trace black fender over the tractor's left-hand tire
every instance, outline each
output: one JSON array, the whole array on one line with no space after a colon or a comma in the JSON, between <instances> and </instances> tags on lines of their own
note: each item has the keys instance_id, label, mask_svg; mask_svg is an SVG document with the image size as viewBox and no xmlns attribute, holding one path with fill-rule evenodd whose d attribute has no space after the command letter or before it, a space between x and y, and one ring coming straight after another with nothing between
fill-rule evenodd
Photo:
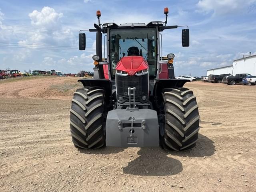
<instances>
[{"instance_id":1,"label":"black fender over the tractor's left-hand tire","mask_svg":"<svg viewBox=\"0 0 256 192\"><path fill-rule=\"evenodd\" d=\"M86 86L95 86L102 87L105 90L105 102L110 104L112 102L112 84L108 79L80 79L78 82L81 82L84 87Z\"/></svg>"}]
</instances>

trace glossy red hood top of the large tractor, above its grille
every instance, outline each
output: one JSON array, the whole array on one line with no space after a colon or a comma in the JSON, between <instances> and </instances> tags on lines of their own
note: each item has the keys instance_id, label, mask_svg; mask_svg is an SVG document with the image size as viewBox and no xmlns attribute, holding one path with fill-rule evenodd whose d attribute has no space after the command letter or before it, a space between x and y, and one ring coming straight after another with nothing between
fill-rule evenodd
<instances>
[{"instance_id":1,"label":"glossy red hood top of the large tractor, above its grille","mask_svg":"<svg viewBox=\"0 0 256 192\"><path fill-rule=\"evenodd\" d=\"M148 62L141 56L126 56L116 65L116 70L125 71L130 76L136 74L136 72L148 69Z\"/></svg>"}]
</instances>

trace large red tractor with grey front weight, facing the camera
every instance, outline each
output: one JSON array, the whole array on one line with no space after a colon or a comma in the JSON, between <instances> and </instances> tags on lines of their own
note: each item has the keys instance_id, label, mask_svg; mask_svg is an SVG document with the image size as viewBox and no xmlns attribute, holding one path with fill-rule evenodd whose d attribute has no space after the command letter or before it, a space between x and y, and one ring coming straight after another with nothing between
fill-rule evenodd
<instances>
[{"instance_id":1,"label":"large red tractor with grey front weight, facing the camera","mask_svg":"<svg viewBox=\"0 0 256 192\"><path fill-rule=\"evenodd\" d=\"M188 150L196 145L199 113L193 92L183 88L189 80L174 78L174 54L162 57L165 22L98 24L94 78L80 79L70 110L72 142L77 148L102 146L154 147ZM102 34L107 56L102 58ZM79 34L85 50L86 35ZM182 29L182 46L189 46L189 30ZM104 50L105 52L105 50Z\"/></svg>"}]
</instances>

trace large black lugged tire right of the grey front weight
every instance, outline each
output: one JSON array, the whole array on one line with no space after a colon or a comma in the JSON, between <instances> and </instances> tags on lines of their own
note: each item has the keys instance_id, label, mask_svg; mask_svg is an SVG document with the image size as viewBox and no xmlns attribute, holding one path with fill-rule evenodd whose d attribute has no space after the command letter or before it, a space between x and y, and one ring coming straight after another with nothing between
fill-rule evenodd
<instances>
[{"instance_id":1,"label":"large black lugged tire right of the grey front weight","mask_svg":"<svg viewBox=\"0 0 256 192\"><path fill-rule=\"evenodd\" d=\"M168 150L189 150L196 145L199 131L199 112L196 97L187 88L163 90L165 108L164 135L160 145Z\"/></svg>"}]
</instances>

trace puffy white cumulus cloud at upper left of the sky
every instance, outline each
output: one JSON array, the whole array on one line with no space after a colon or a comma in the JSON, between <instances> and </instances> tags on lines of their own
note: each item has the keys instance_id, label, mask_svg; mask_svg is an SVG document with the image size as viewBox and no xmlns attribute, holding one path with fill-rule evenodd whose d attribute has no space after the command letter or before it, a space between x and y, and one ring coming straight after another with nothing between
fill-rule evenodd
<instances>
[{"instance_id":1,"label":"puffy white cumulus cloud at upper left of the sky","mask_svg":"<svg viewBox=\"0 0 256 192\"><path fill-rule=\"evenodd\" d=\"M33 26L39 26L42 28L56 28L56 24L63 17L62 13L57 13L53 8L44 7L39 12L34 10L32 13L28 14L31 19L31 24Z\"/></svg>"}]
</instances>

